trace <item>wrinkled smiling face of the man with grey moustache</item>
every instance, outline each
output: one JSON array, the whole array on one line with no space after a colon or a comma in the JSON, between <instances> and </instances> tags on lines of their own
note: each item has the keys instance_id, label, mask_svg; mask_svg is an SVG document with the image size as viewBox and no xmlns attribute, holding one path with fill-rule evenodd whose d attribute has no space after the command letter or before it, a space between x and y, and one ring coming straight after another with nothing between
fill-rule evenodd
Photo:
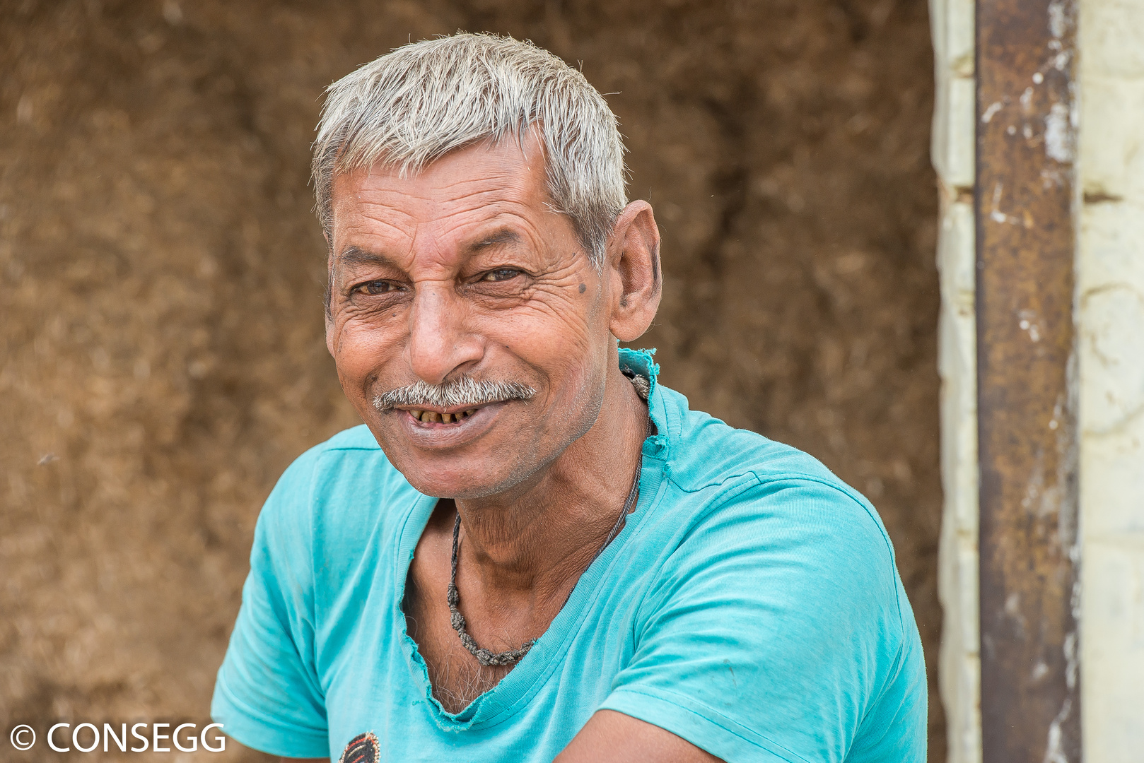
<instances>
[{"instance_id":1,"label":"wrinkled smiling face of the man with grey moustache","mask_svg":"<svg viewBox=\"0 0 1144 763\"><path fill-rule=\"evenodd\" d=\"M353 407L423 493L507 490L596 421L614 289L549 204L532 136L413 177L376 166L334 180L326 343ZM461 379L505 391L476 406L375 405Z\"/></svg>"}]
</instances>

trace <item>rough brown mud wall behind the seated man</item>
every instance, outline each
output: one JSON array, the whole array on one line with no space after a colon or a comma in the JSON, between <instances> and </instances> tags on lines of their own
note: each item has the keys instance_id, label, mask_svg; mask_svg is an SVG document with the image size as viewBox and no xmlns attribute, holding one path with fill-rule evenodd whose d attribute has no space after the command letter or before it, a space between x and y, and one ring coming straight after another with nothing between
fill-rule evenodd
<instances>
[{"instance_id":1,"label":"rough brown mud wall behind the seated man","mask_svg":"<svg viewBox=\"0 0 1144 763\"><path fill-rule=\"evenodd\" d=\"M5 737L205 722L262 500L355 423L323 345L318 96L458 29L612 94L664 231L641 344L694 407L877 504L936 665L924 0L0 0Z\"/></svg>"}]
</instances>

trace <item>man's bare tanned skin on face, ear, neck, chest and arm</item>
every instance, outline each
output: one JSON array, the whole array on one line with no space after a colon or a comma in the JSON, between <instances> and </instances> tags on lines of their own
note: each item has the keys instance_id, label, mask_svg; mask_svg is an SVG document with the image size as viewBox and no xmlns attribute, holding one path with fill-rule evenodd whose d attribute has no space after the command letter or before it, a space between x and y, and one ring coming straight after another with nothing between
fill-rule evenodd
<instances>
[{"instance_id":1,"label":"man's bare tanned skin on face, ear, neck, chest and arm","mask_svg":"<svg viewBox=\"0 0 1144 763\"><path fill-rule=\"evenodd\" d=\"M618 369L615 339L635 340L656 315L659 233L651 207L629 204L597 271L550 206L531 133L523 145L467 148L411 177L384 167L342 174L333 198L326 342L342 388L414 487L454 499L438 503L418 543L405 612L435 696L458 712L510 667L482 667L450 625L456 511L469 633L493 651L540 636L635 475L646 407ZM451 423L372 404L418 380L462 375L523 382L537 395ZM599 712L558 760L716 758Z\"/></svg>"}]
</instances>

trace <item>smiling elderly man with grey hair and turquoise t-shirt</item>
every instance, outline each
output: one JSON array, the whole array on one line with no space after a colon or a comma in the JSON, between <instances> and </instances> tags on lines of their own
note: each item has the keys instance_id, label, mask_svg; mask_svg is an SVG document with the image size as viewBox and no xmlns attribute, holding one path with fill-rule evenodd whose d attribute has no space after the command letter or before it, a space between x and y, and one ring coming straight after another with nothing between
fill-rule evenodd
<instances>
[{"instance_id":1,"label":"smiling elderly man with grey hair and turquoise t-shirt","mask_svg":"<svg viewBox=\"0 0 1144 763\"><path fill-rule=\"evenodd\" d=\"M922 761L877 514L690 411L643 334L651 207L604 100L530 43L408 45L315 144L326 343L365 422L259 519L213 715L286 757Z\"/></svg>"}]
</instances>

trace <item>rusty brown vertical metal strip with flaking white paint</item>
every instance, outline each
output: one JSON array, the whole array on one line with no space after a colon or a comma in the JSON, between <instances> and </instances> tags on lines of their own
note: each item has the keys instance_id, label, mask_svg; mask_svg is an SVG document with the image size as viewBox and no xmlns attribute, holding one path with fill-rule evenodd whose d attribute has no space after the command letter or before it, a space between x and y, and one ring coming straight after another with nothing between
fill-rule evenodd
<instances>
[{"instance_id":1,"label":"rusty brown vertical metal strip with flaking white paint","mask_svg":"<svg viewBox=\"0 0 1144 763\"><path fill-rule=\"evenodd\" d=\"M1080 761L1075 14L977 2L983 763Z\"/></svg>"}]
</instances>

